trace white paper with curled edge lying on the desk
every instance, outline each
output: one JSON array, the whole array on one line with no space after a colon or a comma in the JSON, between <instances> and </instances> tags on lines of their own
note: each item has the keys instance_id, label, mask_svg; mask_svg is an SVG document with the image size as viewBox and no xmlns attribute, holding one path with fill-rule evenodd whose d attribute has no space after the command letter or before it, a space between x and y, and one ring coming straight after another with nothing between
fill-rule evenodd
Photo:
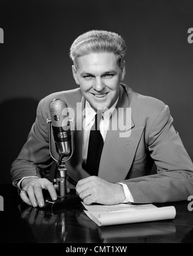
<instances>
[{"instance_id":1,"label":"white paper with curled edge lying on the desk","mask_svg":"<svg viewBox=\"0 0 193 256\"><path fill-rule=\"evenodd\" d=\"M174 219L174 206L156 207L153 204L116 204L112 206L89 205L82 203L86 215L98 226L109 226L145 221Z\"/></svg>"}]
</instances>

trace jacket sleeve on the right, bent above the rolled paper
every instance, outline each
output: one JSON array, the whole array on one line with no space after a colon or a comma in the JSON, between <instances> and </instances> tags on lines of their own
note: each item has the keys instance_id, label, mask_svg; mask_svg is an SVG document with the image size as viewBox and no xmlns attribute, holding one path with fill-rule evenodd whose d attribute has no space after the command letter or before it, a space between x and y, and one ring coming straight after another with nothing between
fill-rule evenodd
<instances>
[{"instance_id":1,"label":"jacket sleeve on the right, bent above the rolled paper","mask_svg":"<svg viewBox=\"0 0 193 256\"><path fill-rule=\"evenodd\" d=\"M135 203L187 200L193 195L193 164L165 105L149 132L148 149L157 174L123 181Z\"/></svg>"}]
</instances>

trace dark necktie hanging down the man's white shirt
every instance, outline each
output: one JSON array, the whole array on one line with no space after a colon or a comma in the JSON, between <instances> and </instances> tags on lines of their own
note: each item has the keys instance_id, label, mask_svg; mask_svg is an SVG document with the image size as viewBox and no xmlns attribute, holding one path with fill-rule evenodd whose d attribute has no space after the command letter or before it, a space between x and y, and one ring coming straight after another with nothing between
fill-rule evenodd
<instances>
[{"instance_id":1,"label":"dark necktie hanging down the man's white shirt","mask_svg":"<svg viewBox=\"0 0 193 256\"><path fill-rule=\"evenodd\" d=\"M99 129L99 123L101 118L101 113L95 115L95 123L91 127L91 132L89 135L89 145L87 150L87 160L85 166L85 170L87 173L96 176L98 175L100 156L104 145L104 141Z\"/></svg>"}]
</instances>

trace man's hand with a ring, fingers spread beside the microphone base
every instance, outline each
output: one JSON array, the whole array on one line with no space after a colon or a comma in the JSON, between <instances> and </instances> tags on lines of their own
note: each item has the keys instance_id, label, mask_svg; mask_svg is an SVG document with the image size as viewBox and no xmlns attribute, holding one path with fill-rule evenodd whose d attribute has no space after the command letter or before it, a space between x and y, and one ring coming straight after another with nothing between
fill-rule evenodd
<instances>
[{"instance_id":1,"label":"man's hand with a ring, fingers spread beside the microphone base","mask_svg":"<svg viewBox=\"0 0 193 256\"><path fill-rule=\"evenodd\" d=\"M44 207L44 197L42 189L48 190L51 199L57 199L57 192L52 182L45 178L26 178L22 181L21 199L33 207Z\"/></svg>"}]
</instances>

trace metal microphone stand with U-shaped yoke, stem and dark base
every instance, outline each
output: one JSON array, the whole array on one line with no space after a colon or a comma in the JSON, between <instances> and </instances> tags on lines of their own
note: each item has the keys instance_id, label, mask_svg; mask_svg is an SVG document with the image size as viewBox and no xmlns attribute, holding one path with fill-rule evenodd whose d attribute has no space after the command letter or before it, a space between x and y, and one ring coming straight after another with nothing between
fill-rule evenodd
<instances>
[{"instance_id":1,"label":"metal microphone stand with U-shaped yoke, stem and dark base","mask_svg":"<svg viewBox=\"0 0 193 256\"><path fill-rule=\"evenodd\" d=\"M57 166L55 168L55 174L53 178L53 184L59 185L59 194L57 196L57 200L53 201L50 197L45 199L45 208L55 210L64 207L64 205L67 205L69 203L69 198L71 198L72 195L67 193L67 186L66 186L66 177L67 177L67 169L66 169L66 162L69 161L73 154L73 131L71 129L71 155L68 159L65 161L62 161L62 159L65 157L65 154L59 155L59 160L55 159L51 153L51 119L47 119L47 123L49 125L48 127L48 133L49 133L49 148L50 148L50 155L51 158L57 162ZM73 123L73 119L69 119L70 127Z\"/></svg>"}]
</instances>

